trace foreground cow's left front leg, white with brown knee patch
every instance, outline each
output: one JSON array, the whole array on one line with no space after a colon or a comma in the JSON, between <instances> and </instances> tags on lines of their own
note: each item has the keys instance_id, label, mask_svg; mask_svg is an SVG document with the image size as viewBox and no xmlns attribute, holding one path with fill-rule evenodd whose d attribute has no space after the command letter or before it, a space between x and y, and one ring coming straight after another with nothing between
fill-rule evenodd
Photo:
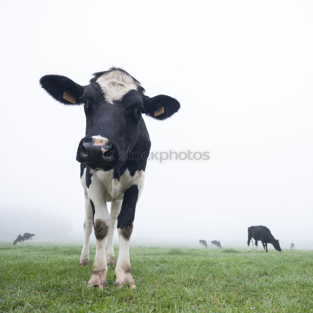
<instances>
[{"instance_id":1,"label":"foreground cow's left front leg, white with brown knee patch","mask_svg":"<svg viewBox=\"0 0 313 313\"><path fill-rule=\"evenodd\" d=\"M87 178L86 178L87 179ZM87 188L90 204L94 212L94 233L96 237L96 254L92 266L89 286L105 288L108 267L105 259L105 245L107 235L110 232L111 218L106 207L105 190L103 186L92 177L91 184Z\"/></svg>"}]
</instances>

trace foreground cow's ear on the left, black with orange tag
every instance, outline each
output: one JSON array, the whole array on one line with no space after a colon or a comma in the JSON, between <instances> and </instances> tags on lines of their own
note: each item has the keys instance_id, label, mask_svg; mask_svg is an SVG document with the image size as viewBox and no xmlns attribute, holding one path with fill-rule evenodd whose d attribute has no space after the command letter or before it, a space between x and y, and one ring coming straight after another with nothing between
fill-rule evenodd
<instances>
[{"instance_id":1,"label":"foreground cow's ear on the left, black with orange tag","mask_svg":"<svg viewBox=\"0 0 313 313\"><path fill-rule=\"evenodd\" d=\"M62 75L45 75L39 83L55 100L64 104L81 104L84 87Z\"/></svg>"}]
</instances>

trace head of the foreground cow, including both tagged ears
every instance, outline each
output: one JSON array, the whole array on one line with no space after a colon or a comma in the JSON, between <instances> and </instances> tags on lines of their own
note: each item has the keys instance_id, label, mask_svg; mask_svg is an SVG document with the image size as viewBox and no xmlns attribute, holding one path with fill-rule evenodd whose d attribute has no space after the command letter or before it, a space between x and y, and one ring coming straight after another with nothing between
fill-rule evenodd
<instances>
[{"instance_id":1,"label":"head of the foreground cow, including both tagged ears","mask_svg":"<svg viewBox=\"0 0 313 313\"><path fill-rule=\"evenodd\" d=\"M91 166L119 165L119 154L131 151L138 137L141 114L164 120L180 108L167 95L150 98L135 78L112 68L94 74L87 86L60 75L46 75L41 86L54 99L66 105L84 105L86 136L81 139L76 159Z\"/></svg>"}]
</instances>

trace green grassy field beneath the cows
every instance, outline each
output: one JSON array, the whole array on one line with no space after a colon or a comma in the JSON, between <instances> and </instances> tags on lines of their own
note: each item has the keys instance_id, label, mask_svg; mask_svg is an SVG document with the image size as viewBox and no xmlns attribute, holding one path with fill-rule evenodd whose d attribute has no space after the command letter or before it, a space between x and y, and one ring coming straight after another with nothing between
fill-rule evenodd
<instances>
[{"instance_id":1,"label":"green grassy field beneath the cows","mask_svg":"<svg viewBox=\"0 0 313 313\"><path fill-rule=\"evenodd\" d=\"M80 249L0 244L0 312L313 312L313 251L131 247L136 289L99 290Z\"/></svg>"}]
</instances>

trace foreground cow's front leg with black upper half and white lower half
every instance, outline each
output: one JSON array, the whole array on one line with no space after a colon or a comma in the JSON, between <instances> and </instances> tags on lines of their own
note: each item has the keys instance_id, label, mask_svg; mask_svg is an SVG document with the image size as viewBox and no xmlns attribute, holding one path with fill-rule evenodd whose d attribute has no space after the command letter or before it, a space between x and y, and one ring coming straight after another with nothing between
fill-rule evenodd
<instances>
[{"instance_id":1,"label":"foreground cow's front leg with black upper half and white lower half","mask_svg":"<svg viewBox=\"0 0 313 313\"><path fill-rule=\"evenodd\" d=\"M141 189L141 187L139 187ZM117 218L117 232L119 234L120 247L115 268L115 286L129 285L135 288L135 281L131 275L131 263L129 260L129 240L133 230L136 203L141 193L137 185L132 185L124 192L121 212Z\"/></svg>"}]
</instances>

